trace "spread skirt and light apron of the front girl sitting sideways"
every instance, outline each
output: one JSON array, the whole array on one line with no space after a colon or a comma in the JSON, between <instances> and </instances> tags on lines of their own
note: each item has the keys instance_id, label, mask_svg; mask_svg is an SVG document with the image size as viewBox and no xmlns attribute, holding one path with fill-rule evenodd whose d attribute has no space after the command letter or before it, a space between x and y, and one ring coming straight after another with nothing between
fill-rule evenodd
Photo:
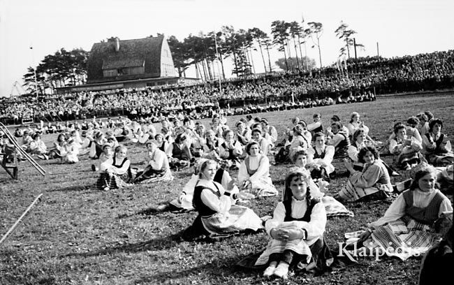
<instances>
[{"instance_id":1,"label":"spread skirt and light apron of the front girl sitting sideways","mask_svg":"<svg viewBox=\"0 0 454 285\"><path fill-rule=\"evenodd\" d=\"M192 226L184 231L184 240L198 238L224 238L244 231L255 232L263 229L263 221L248 207L232 205L227 213L217 213L210 217L196 217Z\"/></svg>"}]
</instances>

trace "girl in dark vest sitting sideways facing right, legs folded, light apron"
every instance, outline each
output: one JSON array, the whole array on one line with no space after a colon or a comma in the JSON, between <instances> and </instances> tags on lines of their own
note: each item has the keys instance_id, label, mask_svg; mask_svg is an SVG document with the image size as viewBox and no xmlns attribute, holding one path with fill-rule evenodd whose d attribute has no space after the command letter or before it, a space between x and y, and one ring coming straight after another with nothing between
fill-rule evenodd
<instances>
[{"instance_id":1,"label":"girl in dark vest sitting sideways facing right, legs folded, light apron","mask_svg":"<svg viewBox=\"0 0 454 285\"><path fill-rule=\"evenodd\" d=\"M262 220L248 207L232 205L221 184L214 182L217 162L208 160L200 166L199 180L193 193L192 204L198 212L192 226L183 233L185 240L200 236L226 237L242 231L258 231Z\"/></svg>"}]
</instances>

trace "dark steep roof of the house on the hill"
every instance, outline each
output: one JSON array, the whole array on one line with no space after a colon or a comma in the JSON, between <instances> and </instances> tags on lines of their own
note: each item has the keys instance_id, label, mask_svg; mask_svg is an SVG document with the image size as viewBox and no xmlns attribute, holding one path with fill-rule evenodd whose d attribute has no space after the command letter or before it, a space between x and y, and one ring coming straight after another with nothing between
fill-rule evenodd
<instances>
[{"instance_id":1,"label":"dark steep roof of the house on the hill","mask_svg":"<svg viewBox=\"0 0 454 285\"><path fill-rule=\"evenodd\" d=\"M163 36L138 38L119 41L119 50L115 51L115 41L95 43L91 47L87 62L88 82L111 81L103 77L103 68L121 68L142 66L145 62L145 74L122 76L122 80L138 78L156 78L161 75L161 49ZM120 78L115 78L119 80Z\"/></svg>"}]
</instances>

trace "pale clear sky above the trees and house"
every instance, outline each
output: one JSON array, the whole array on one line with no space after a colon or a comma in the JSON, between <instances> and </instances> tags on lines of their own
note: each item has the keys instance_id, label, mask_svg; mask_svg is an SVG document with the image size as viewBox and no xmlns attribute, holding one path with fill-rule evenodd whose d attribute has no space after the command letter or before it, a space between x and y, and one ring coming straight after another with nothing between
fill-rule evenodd
<instances>
[{"instance_id":1,"label":"pale clear sky above the trees and house","mask_svg":"<svg viewBox=\"0 0 454 285\"><path fill-rule=\"evenodd\" d=\"M342 47L334 33L341 21L365 45L358 57L376 55L377 43L382 57L402 57L452 50L453 11L453 0L0 0L0 96L16 95L14 83L22 85L27 67L37 66L47 54L62 47L89 51L111 36L127 40L161 33L182 41L225 25L258 27L270 35L272 21L301 22L304 17L305 23L323 24L321 57L327 66ZM311 46L307 56L318 64L318 50ZM276 51L271 57L273 62L284 54ZM257 73L264 71L259 52L254 66Z\"/></svg>"}]
</instances>

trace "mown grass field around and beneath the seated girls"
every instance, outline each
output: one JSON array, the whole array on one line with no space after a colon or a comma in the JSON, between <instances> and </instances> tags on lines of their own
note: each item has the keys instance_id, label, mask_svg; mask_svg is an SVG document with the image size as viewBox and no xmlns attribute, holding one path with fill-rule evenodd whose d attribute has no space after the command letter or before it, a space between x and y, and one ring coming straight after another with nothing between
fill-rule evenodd
<instances>
[{"instance_id":1,"label":"mown grass field around and beneath the seated girls","mask_svg":"<svg viewBox=\"0 0 454 285\"><path fill-rule=\"evenodd\" d=\"M444 121L444 133L454 129L454 94L388 96L372 103L331 105L320 108L258 114L279 133L298 116L306 122L320 112L328 125L332 115L348 122L356 111L369 126L370 135L384 141L397 121L431 110ZM228 117L233 124L240 117ZM207 120L203 120L205 124ZM50 145L55 136L43 138ZM144 147L129 146L129 158L137 167ZM395 258L360 258L359 262L322 276L296 275L286 282L267 280L261 272L237 270L233 265L256 253L268 241L265 233L239 235L218 242L180 242L175 233L189 226L196 213L152 213L159 203L175 198L189 180L190 170L175 173L173 182L140 184L122 190L96 191L97 174L92 161L61 165L57 160L38 161L47 170L42 177L28 162L20 163L20 179L11 180L0 170L0 234L39 193L41 202L0 247L0 284L417 284L421 258L402 262ZM384 158L390 162L390 157ZM270 157L271 161L274 161ZM342 163L335 166L344 172ZM272 166L272 180L283 189L287 166ZM342 175L341 175L342 176ZM402 177L393 177L395 182ZM328 194L337 192L346 177L332 181ZM450 196L452 199L452 196ZM272 214L278 197L249 203L259 216ZM325 236L337 252L346 231L357 231L381 217L390 202L349 203L354 218L328 219Z\"/></svg>"}]
</instances>

